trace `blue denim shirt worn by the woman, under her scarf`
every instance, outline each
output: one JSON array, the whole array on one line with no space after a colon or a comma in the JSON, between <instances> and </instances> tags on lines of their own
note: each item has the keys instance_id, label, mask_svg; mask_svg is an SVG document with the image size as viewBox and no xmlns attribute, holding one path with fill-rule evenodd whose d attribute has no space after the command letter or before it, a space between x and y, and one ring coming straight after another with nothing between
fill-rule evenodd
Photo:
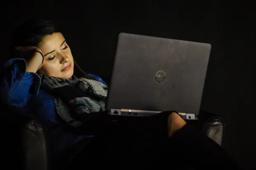
<instances>
[{"instance_id":1,"label":"blue denim shirt worn by the woman, under her scarf","mask_svg":"<svg viewBox=\"0 0 256 170\"><path fill-rule=\"evenodd\" d=\"M49 139L52 157L92 136L75 135L65 128L64 121L58 116L54 97L40 88L40 77L33 72L26 72L26 62L14 58L5 63L7 74L0 80L0 102L13 106L18 114L36 116ZM100 77L91 75L106 84ZM107 84L106 84L107 85Z\"/></svg>"}]
</instances>

